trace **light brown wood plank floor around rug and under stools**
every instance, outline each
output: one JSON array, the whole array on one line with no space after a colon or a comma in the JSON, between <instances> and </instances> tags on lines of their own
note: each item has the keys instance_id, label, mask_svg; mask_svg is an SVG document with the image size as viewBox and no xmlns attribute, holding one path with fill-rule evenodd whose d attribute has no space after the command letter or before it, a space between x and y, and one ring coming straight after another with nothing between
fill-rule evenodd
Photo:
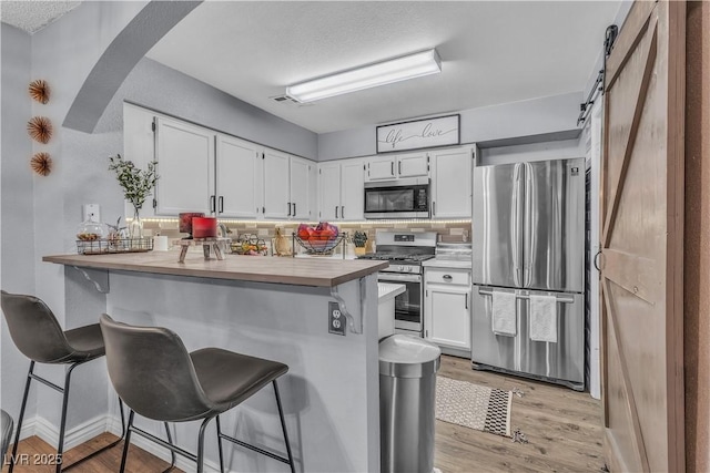
<instances>
[{"instance_id":1,"label":"light brown wood plank floor around rug and under stools","mask_svg":"<svg viewBox=\"0 0 710 473\"><path fill-rule=\"evenodd\" d=\"M442 357L440 376L481 385L524 392L513 397L511 429L520 429L528 443L479 432L465 426L436 422L435 465L443 473L473 472L599 472L605 467L601 452L601 408L588 393L516 377L473 371L468 360ZM67 452L64 462L115 440L104 433ZM20 442L20 453L51 454L54 450L33 436ZM71 469L75 473L118 471L122 444ZM126 471L162 472L168 463L131 445ZM18 473L50 473L52 466L18 465ZM180 470L174 470L180 472ZM7 466L2 472L7 472Z\"/></svg>"}]
</instances>

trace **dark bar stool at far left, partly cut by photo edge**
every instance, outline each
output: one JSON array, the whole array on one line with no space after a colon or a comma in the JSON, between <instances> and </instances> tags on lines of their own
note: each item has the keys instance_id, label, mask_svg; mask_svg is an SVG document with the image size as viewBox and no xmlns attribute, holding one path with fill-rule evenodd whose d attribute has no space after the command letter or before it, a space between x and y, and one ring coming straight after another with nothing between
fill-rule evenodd
<instances>
[{"instance_id":1,"label":"dark bar stool at far left, partly cut by photo edge","mask_svg":"<svg viewBox=\"0 0 710 473\"><path fill-rule=\"evenodd\" d=\"M1 294L2 312L8 323L10 337L18 349L30 359L30 369L27 373L24 395L22 397L22 407L20 408L20 417L18 418L18 428L14 434L14 444L12 445L12 456L10 457L8 473L11 473L14 469L18 443L20 443L20 431L22 430L22 420L24 418L24 409L27 408L27 399L30 393L32 380L37 380L63 394L59 444L57 448L57 472L59 473L62 470L60 459L62 459L64 450L64 429L67 426L67 404L69 401L71 373L78 366L103 357L104 348L101 328L99 323L93 323L63 331L54 313L37 297L9 294L4 290L1 291ZM69 368L64 376L64 385L59 387L36 374L34 363L68 364ZM71 466L116 445L122 440L125 433L125 421L123 419L123 403L120 399L119 405L121 408L121 439L92 452L88 456L72 463Z\"/></svg>"}]
</instances>

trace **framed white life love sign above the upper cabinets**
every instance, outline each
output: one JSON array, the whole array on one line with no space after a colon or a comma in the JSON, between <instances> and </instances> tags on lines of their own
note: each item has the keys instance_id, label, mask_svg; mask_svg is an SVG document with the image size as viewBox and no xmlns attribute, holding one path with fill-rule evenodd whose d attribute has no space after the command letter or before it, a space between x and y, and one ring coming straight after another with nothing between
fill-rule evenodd
<instances>
[{"instance_id":1,"label":"framed white life love sign above the upper cabinets","mask_svg":"<svg viewBox=\"0 0 710 473\"><path fill-rule=\"evenodd\" d=\"M377 126L377 153L459 144L459 122L446 115Z\"/></svg>"}]
</instances>

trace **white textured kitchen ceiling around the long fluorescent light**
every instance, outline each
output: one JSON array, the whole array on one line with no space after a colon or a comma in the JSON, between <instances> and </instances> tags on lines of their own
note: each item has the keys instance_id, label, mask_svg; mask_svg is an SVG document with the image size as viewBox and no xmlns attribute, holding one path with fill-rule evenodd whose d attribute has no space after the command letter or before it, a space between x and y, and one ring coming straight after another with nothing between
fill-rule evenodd
<instances>
[{"instance_id":1,"label":"white textured kitchen ceiling around the long fluorescent light","mask_svg":"<svg viewBox=\"0 0 710 473\"><path fill-rule=\"evenodd\" d=\"M581 92L621 1L207 1L154 59L316 133ZM436 48L440 74L276 103L288 84Z\"/></svg>"}]
</instances>

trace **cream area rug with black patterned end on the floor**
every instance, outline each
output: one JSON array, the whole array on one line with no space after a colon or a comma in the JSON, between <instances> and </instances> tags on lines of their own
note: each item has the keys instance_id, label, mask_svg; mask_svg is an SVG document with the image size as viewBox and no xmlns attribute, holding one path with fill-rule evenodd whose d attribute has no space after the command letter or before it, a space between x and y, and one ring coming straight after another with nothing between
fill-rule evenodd
<instances>
[{"instance_id":1,"label":"cream area rug with black patterned end on the floor","mask_svg":"<svg viewBox=\"0 0 710 473\"><path fill-rule=\"evenodd\" d=\"M510 436L513 393L450 378L436 378L436 419Z\"/></svg>"}]
</instances>

